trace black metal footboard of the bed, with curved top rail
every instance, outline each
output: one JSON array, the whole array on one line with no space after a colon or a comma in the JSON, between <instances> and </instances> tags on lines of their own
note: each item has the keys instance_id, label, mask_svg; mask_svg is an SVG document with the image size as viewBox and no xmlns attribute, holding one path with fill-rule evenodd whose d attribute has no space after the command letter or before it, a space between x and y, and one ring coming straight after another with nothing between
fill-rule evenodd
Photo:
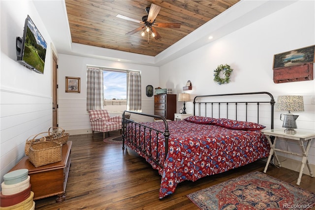
<instances>
[{"instance_id":1,"label":"black metal footboard of the bed, with curved top rail","mask_svg":"<svg viewBox=\"0 0 315 210\"><path fill-rule=\"evenodd\" d=\"M155 128L144 125L143 123L135 122L133 120L126 118L126 114L137 114L137 115L143 115L143 116L147 116L147 117L161 119L164 123L165 129L164 130L157 130ZM164 139L165 139L165 150L164 150L164 152L165 152L164 160L165 160L165 158L167 156L167 152L168 152L168 138L170 136L170 133L168 130L168 124L167 124L165 117L153 115L153 114L136 112L136 111L126 111L125 110L123 112L122 120L123 120L123 150L125 149L125 140L128 140L129 143L132 144L138 151L141 151L142 153L144 153L147 157L151 158L151 160L153 160L159 167L163 168L163 166L160 162L160 155L157 152L157 154L154 156L152 154L152 151L158 151L158 146L159 146L158 137L163 135ZM138 129L134 129L134 130L131 129L131 128L135 128L135 127L137 127ZM145 131L149 132L149 137L148 137L149 141L141 140L142 138L146 138L146 136L144 135L144 137L141 138L141 132L140 131L144 131L144 133L146 133ZM151 135L153 133L155 133L156 135ZM153 143L152 143L152 142L154 142L153 138L156 138L155 139L156 145L153 145ZM146 143L143 143L143 142L147 142L149 145L146 145ZM146 146L148 146L150 148L149 151L147 151L145 149ZM156 147L156 148L153 148L153 147Z\"/></svg>"}]
</instances>

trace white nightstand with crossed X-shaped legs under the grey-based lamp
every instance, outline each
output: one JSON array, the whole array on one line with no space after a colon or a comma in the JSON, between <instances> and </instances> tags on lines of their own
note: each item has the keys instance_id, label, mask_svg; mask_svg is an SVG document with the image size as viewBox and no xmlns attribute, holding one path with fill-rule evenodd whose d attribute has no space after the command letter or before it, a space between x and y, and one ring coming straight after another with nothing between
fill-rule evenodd
<instances>
[{"instance_id":1,"label":"white nightstand with crossed X-shaped legs under the grey-based lamp","mask_svg":"<svg viewBox=\"0 0 315 210\"><path fill-rule=\"evenodd\" d=\"M269 157L268 157L265 169L264 169L264 173L266 173L266 171L267 171L267 168L268 168L268 165L270 163L272 155L275 156L276 160L279 163L279 166L281 167L280 161L279 161L277 153L276 153L276 151L280 151L280 152L284 152L284 153L287 153L287 154L291 154L291 155L296 155L296 156L302 157L302 161L301 161L302 165L301 165L301 169L300 169L300 174L299 174L299 177L298 177L297 182L296 182L297 185L300 185L305 164L309 168L309 172L310 172L311 177L314 177L314 175L312 173L312 170L311 170L311 167L310 167L310 164L309 164L309 161L308 161L307 158L308 158L308 155L309 155L309 150L310 150L310 147L311 147L312 140L315 138L315 131L310 131L310 130L309 131L305 131L305 130L297 129L296 134L285 134L283 129L282 130L280 130L280 129L271 129L271 130L261 130L261 133L263 135L266 135L266 137L267 137L267 139L269 141L269 144L270 144L270 148L271 148L270 149L270 153L269 153ZM272 141L270 139L271 136L275 137L275 140L274 140L273 143L272 143ZM299 153L290 152L290 151L286 151L286 150L282 150L282 149L277 149L276 148L276 142L277 142L278 137L284 138L284 139L298 141L299 144L300 144L302 152L299 154ZM307 141L306 148L304 147L304 144L303 144L304 141Z\"/></svg>"}]
</instances>

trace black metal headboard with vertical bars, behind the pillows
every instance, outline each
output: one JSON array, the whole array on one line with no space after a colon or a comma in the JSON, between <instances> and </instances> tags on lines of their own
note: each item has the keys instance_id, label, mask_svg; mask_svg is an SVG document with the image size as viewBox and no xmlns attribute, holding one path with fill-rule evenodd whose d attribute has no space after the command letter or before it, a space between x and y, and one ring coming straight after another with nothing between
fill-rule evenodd
<instances>
[{"instance_id":1,"label":"black metal headboard with vertical bars, behind the pillows","mask_svg":"<svg viewBox=\"0 0 315 210\"><path fill-rule=\"evenodd\" d=\"M270 110L260 109L262 104L269 104ZM274 97L268 92L204 95L193 99L193 115L260 123L260 119L266 120L265 113L270 113L270 128L273 129L274 105Z\"/></svg>"}]
</instances>

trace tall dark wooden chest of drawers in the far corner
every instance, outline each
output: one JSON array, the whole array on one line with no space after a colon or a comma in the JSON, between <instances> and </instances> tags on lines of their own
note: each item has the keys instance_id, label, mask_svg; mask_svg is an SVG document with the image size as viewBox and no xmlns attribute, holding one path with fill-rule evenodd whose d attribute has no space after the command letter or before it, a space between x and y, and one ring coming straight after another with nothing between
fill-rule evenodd
<instances>
[{"instance_id":1,"label":"tall dark wooden chest of drawers in the far corner","mask_svg":"<svg viewBox=\"0 0 315 210\"><path fill-rule=\"evenodd\" d=\"M154 96L154 114L174 120L176 113L176 94L159 94Z\"/></svg>"}]
</instances>

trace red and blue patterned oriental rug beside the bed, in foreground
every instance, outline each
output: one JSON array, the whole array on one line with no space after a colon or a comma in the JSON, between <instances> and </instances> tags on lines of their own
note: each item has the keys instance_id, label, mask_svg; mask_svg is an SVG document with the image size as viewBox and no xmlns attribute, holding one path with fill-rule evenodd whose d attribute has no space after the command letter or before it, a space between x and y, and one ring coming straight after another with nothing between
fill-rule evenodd
<instances>
[{"instance_id":1,"label":"red and blue patterned oriental rug beside the bed, in foreground","mask_svg":"<svg viewBox=\"0 0 315 210\"><path fill-rule=\"evenodd\" d=\"M252 172L190 193L201 210L308 210L315 194L261 172Z\"/></svg>"}]
</instances>

